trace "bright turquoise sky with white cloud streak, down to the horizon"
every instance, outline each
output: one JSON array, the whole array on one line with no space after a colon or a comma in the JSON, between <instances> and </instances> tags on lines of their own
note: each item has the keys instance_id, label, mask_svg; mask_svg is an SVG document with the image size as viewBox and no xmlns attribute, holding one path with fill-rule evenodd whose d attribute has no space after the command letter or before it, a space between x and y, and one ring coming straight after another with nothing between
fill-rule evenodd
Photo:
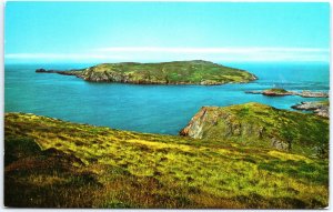
<instances>
[{"instance_id":1,"label":"bright turquoise sky with white cloud streak, down to the horizon","mask_svg":"<svg viewBox=\"0 0 333 212\"><path fill-rule=\"evenodd\" d=\"M327 2L7 2L4 61L330 60Z\"/></svg>"}]
</instances>

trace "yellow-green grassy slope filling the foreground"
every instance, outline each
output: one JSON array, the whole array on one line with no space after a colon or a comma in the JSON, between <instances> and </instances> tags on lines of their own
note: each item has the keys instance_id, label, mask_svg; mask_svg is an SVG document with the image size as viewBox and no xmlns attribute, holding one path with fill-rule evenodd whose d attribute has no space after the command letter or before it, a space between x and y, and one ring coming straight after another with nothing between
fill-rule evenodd
<instances>
[{"instance_id":1,"label":"yellow-green grassy slope filling the foreground","mask_svg":"<svg viewBox=\"0 0 333 212\"><path fill-rule=\"evenodd\" d=\"M7 206L327 206L327 160L34 114L4 121Z\"/></svg>"}]
</instances>

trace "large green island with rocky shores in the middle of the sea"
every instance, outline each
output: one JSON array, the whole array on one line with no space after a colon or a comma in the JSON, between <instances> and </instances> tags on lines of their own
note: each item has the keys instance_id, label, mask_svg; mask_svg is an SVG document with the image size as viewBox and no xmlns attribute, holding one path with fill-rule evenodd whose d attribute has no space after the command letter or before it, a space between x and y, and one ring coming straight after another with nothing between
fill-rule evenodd
<instances>
[{"instance_id":1,"label":"large green island with rocky shores in the middle of the sea","mask_svg":"<svg viewBox=\"0 0 333 212\"><path fill-rule=\"evenodd\" d=\"M160 63L102 63L78 70L38 69L37 73L75 75L89 82L133 84L204 84L245 83L258 78L244 70L203 60Z\"/></svg>"}]
</instances>

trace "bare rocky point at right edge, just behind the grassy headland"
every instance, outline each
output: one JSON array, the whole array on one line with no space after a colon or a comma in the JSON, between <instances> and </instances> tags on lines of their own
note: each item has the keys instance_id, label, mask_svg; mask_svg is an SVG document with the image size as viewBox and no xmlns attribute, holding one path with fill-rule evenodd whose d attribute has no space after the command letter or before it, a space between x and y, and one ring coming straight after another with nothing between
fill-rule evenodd
<instances>
[{"instance_id":1,"label":"bare rocky point at right edge, just behind the grassy headland","mask_svg":"<svg viewBox=\"0 0 333 212\"><path fill-rule=\"evenodd\" d=\"M320 117L330 118L330 102L326 101L315 101L315 102L301 102L299 104L292 105L292 109L312 111L314 114Z\"/></svg>"}]
</instances>

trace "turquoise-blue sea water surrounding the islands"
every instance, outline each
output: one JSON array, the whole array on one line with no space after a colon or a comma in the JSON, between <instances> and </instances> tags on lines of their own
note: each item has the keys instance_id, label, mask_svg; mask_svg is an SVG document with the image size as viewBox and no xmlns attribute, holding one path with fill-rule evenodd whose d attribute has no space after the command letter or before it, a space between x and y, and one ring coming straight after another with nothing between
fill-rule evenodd
<instances>
[{"instance_id":1,"label":"turquoise-blue sea water surrounding the islands","mask_svg":"<svg viewBox=\"0 0 333 212\"><path fill-rule=\"evenodd\" d=\"M225 64L225 63L224 63ZM75 77L38 74L37 68L73 69L91 64L7 64L4 111L30 112L114 129L176 134L203 105L261 102L279 109L317 98L272 98L244 91L280 87L292 91L329 91L325 63L226 64L259 77L246 84L137 85L92 83Z\"/></svg>"}]
</instances>

